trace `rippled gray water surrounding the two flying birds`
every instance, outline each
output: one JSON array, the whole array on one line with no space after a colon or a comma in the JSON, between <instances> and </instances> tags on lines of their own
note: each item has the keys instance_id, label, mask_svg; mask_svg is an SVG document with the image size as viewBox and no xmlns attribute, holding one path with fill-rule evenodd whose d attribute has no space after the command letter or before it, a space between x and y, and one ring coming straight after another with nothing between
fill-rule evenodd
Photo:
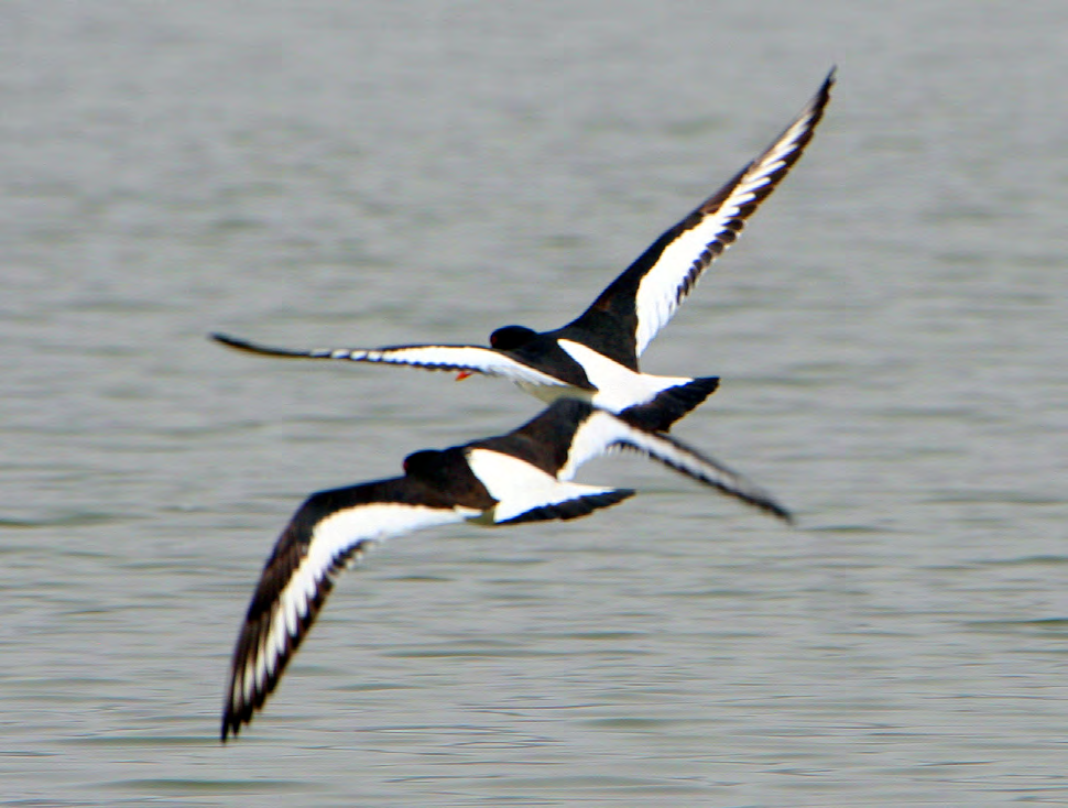
<instances>
[{"instance_id":1,"label":"rippled gray water surrounding the two flying birds","mask_svg":"<svg viewBox=\"0 0 1068 808\"><path fill-rule=\"evenodd\" d=\"M796 529L637 459L397 538L217 740L309 492L506 384L240 356L563 324L802 107L645 354ZM1068 6L0 8L0 802L1068 804Z\"/></svg>"}]
</instances>

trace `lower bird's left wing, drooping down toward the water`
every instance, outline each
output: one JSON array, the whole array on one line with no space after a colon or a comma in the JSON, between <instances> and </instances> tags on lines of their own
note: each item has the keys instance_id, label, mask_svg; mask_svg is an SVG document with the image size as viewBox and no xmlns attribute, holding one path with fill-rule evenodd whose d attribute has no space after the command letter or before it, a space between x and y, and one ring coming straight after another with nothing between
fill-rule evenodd
<instances>
[{"instance_id":1,"label":"lower bird's left wing, drooping down toward the water","mask_svg":"<svg viewBox=\"0 0 1068 808\"><path fill-rule=\"evenodd\" d=\"M252 720L296 653L334 587L370 544L460 522L475 509L413 504L404 478L313 494L283 531L241 626L222 707L222 740Z\"/></svg>"}]
</instances>

